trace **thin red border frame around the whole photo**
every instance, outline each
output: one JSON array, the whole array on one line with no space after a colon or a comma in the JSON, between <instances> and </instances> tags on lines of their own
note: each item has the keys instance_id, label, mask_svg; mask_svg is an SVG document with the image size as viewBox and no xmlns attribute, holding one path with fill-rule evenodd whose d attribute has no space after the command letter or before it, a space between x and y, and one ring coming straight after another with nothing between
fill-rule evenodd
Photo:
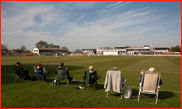
<instances>
[{"instance_id":1,"label":"thin red border frame around the whole photo","mask_svg":"<svg viewBox=\"0 0 182 109\"><path fill-rule=\"evenodd\" d=\"M1 1L62 1L62 0L0 0L0 9L1 9ZM112 1L112 0L64 0L64 1ZM129 1L129 0L114 0L114 1ZM132 0L132 1L181 1L181 0ZM182 6L182 1L181 1L181 6ZM181 12L182 12L182 8L181 8ZM181 14L181 18L182 18L182 14ZM1 11L0 11L0 23L1 23ZM1 30L1 24L0 24L0 30ZM1 35L1 31L0 31L0 35ZM0 41L1 41L1 37L0 37ZM181 39L181 42L182 42L182 39ZM181 49L181 53L182 53L182 49ZM1 56L0 56L0 60L1 60ZM1 66L0 66L0 71L1 71ZM182 59L181 59L181 71L182 71ZM181 78L182 78L182 75L181 75ZM0 83L1 83L1 75L0 75ZM181 86L182 86L182 81L181 81ZM1 89L1 84L0 84L0 89ZM181 92L182 92L182 87L181 87ZM0 96L1 96L1 90L0 90ZM0 108L1 108L1 99L0 99ZM2 109L9 109L9 108L2 108ZM12 109L19 109L19 108L12 108ZM34 108L29 108L29 109L34 109ZM39 109L45 109L45 108L39 108ZM46 109L52 109L52 108L46 108ZM59 108L54 108L54 109L59 109ZM80 109L80 108L69 108L69 109ZM101 108L101 109L109 109L109 108ZM112 109L118 109L118 108L112 108ZM126 108L126 109L132 109L132 108ZM139 109L142 109L142 108L139 108ZM165 108L160 108L160 109L165 109ZM182 94L181 94L181 108L177 108L177 109L182 109Z\"/></svg>"}]
</instances>

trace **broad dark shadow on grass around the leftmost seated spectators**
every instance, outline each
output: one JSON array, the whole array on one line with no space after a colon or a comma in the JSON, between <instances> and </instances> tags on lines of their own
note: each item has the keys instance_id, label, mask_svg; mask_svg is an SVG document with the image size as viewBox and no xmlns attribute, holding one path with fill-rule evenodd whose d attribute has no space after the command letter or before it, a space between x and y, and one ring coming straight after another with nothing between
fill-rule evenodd
<instances>
[{"instance_id":1,"label":"broad dark shadow on grass around the leftmost seated spectators","mask_svg":"<svg viewBox=\"0 0 182 109\"><path fill-rule=\"evenodd\" d=\"M24 70L28 70L29 76L33 77L33 73L34 73L33 66L36 66L36 65L37 64L23 64L23 65L21 65L21 67ZM15 82L15 79L13 76L14 66L15 65L2 65L1 66L1 84L8 84L8 83ZM55 70L58 67L58 65L42 64L42 66L45 67L47 71L50 71L50 74L47 75L47 77L51 78L51 79L48 79L47 82L52 82L52 78L56 77ZM68 68L68 71L70 72L70 71L74 71L74 70L78 70L78 69L83 69L84 67L65 65L65 68ZM25 81L27 81L27 80L25 80Z\"/></svg>"}]
</instances>

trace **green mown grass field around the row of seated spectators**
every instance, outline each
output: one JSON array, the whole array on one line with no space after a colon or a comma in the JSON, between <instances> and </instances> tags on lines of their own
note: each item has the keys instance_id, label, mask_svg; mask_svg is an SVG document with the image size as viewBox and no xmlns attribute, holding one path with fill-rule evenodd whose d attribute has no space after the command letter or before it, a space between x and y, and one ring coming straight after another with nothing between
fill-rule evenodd
<instances>
[{"instance_id":1,"label":"green mown grass field around the row of seated spectators","mask_svg":"<svg viewBox=\"0 0 182 109\"><path fill-rule=\"evenodd\" d=\"M13 65L19 61L24 69L33 76L33 66L41 63L50 71L48 81L15 81ZM69 86L53 86L52 78L60 62L65 63L74 81ZM93 65L99 79L98 90L77 90L82 86L81 76ZM155 96L142 94L140 102L136 99L120 100L120 94L109 93L106 97L104 80L107 70L118 67L132 88L133 96L138 95L139 74L142 69L154 67L161 73L163 85L160 88L158 104ZM23 56L1 57L1 106L3 108L180 108L181 107L181 57L148 57L148 56Z\"/></svg>"}]
</instances>

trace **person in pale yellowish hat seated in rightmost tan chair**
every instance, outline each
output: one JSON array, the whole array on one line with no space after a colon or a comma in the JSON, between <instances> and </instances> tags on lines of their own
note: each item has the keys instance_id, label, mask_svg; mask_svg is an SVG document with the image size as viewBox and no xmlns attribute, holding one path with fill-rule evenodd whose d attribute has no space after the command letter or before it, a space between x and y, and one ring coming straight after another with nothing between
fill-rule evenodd
<instances>
[{"instance_id":1,"label":"person in pale yellowish hat seated in rightmost tan chair","mask_svg":"<svg viewBox=\"0 0 182 109\"><path fill-rule=\"evenodd\" d=\"M157 72L155 71L155 68L153 68L153 67L149 68L148 71L142 70L142 71L140 72L140 76L139 76L139 82L140 82L140 83L141 83L141 81L142 81L142 76L143 76L144 73L157 73ZM160 79L159 85L162 85L162 84L163 84L163 82L162 82L162 80Z\"/></svg>"}]
</instances>

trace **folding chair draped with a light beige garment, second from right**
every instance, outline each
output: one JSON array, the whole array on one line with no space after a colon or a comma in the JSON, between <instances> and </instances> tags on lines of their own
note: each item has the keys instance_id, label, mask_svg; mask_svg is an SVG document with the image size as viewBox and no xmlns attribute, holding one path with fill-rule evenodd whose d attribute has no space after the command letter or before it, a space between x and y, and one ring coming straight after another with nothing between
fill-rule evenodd
<instances>
[{"instance_id":1,"label":"folding chair draped with a light beige garment, second from right","mask_svg":"<svg viewBox=\"0 0 182 109\"><path fill-rule=\"evenodd\" d=\"M120 80L120 83L116 83L116 80ZM125 82L127 79L125 79L125 81L122 83L122 74L121 71L107 71L106 73L106 79L105 79L105 83L104 83L104 88L105 91L107 92L106 97L108 97L108 92L111 91L111 93L114 92L114 88L117 87L117 89L119 89L120 91L118 91L117 93L121 93L121 98L123 96L123 91L124 91L124 87L125 87Z\"/></svg>"}]
</instances>

